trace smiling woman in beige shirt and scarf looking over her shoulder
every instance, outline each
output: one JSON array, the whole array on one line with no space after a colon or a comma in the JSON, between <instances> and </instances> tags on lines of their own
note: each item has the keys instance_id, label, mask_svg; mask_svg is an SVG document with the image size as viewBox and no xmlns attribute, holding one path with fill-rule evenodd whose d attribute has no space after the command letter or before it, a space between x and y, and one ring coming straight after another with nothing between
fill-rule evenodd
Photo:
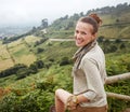
<instances>
[{"instance_id":1,"label":"smiling woman in beige shirt and scarf looking over her shoulder","mask_svg":"<svg viewBox=\"0 0 130 112\"><path fill-rule=\"evenodd\" d=\"M74 55L74 94L62 88L55 92L56 112L107 112L104 82L104 53L96 42L102 24L96 14L81 17L76 25L75 42L79 50Z\"/></svg>"}]
</instances>

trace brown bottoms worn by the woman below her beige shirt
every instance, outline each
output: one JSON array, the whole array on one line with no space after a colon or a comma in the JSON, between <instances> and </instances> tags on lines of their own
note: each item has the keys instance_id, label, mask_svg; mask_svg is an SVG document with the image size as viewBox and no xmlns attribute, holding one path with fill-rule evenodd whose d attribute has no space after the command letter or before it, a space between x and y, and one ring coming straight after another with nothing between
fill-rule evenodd
<instances>
[{"instance_id":1,"label":"brown bottoms worn by the woman below her beige shirt","mask_svg":"<svg viewBox=\"0 0 130 112\"><path fill-rule=\"evenodd\" d=\"M78 106L76 110L72 110L70 112L107 112L107 106L100 108L88 108Z\"/></svg>"}]
</instances>

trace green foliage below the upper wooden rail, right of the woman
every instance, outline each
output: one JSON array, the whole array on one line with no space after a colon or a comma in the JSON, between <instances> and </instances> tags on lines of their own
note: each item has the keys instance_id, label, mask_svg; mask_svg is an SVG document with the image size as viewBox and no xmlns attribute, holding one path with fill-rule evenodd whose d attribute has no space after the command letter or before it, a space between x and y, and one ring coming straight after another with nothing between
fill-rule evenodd
<instances>
[{"instance_id":1,"label":"green foliage below the upper wooden rail, right of the woman","mask_svg":"<svg viewBox=\"0 0 130 112\"><path fill-rule=\"evenodd\" d=\"M115 84L105 86L106 92L122 94L130 96L130 80L120 81ZM116 98L108 98L108 112L122 112L130 107L130 101L125 101Z\"/></svg>"}]
</instances>

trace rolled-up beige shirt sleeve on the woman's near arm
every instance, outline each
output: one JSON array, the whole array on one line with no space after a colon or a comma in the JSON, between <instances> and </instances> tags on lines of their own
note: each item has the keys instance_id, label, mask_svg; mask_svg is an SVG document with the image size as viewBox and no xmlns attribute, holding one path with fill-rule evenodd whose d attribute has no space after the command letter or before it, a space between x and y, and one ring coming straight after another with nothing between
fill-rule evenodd
<instances>
[{"instance_id":1,"label":"rolled-up beige shirt sleeve on the woman's near arm","mask_svg":"<svg viewBox=\"0 0 130 112\"><path fill-rule=\"evenodd\" d=\"M98 69L96 61L83 58L81 69L86 74L87 92L83 96L89 100L93 100L96 96L102 95L104 85L101 79L100 70Z\"/></svg>"}]
</instances>

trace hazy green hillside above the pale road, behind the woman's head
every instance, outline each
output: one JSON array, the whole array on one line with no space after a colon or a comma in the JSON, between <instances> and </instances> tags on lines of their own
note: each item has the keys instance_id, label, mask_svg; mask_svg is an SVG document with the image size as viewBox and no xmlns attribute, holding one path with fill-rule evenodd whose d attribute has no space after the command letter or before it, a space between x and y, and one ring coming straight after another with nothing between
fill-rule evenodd
<instances>
[{"instance_id":1,"label":"hazy green hillside above the pale road, behind the woman's head","mask_svg":"<svg viewBox=\"0 0 130 112\"><path fill-rule=\"evenodd\" d=\"M88 11L87 14L81 12L80 14L74 14L72 16L65 15L64 17L55 19L53 24L49 26L48 30L51 33L52 31L74 30L76 22L81 16L87 16L91 13L99 14L103 19L99 36L105 38L130 38L130 4L128 3L120 3L116 6L92 9Z\"/></svg>"}]
</instances>

